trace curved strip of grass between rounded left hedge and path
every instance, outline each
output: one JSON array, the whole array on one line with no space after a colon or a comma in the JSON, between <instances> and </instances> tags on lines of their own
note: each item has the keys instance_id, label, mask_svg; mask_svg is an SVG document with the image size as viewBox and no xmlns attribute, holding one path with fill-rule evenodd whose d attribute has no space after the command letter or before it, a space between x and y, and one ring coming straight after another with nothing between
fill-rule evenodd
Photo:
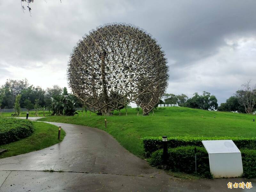
<instances>
[{"instance_id":1,"label":"curved strip of grass between rounded left hedge and path","mask_svg":"<svg viewBox=\"0 0 256 192\"><path fill-rule=\"evenodd\" d=\"M66 135L65 131L61 130L60 140L58 140L57 126L43 122L33 122L33 125L35 131L31 136L9 144L0 145L0 148L8 149L8 151L0 155L0 158L20 155L50 147L59 143Z\"/></svg>"}]
</instances>

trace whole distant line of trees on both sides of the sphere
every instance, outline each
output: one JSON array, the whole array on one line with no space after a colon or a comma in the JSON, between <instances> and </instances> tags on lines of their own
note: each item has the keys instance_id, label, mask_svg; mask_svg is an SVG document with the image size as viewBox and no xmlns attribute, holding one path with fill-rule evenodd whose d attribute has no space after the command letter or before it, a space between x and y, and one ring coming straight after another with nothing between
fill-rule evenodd
<instances>
[{"instance_id":1,"label":"whole distant line of trees on both sides of the sphere","mask_svg":"<svg viewBox=\"0 0 256 192\"><path fill-rule=\"evenodd\" d=\"M230 111L239 113L253 113L256 110L256 85L252 88L250 81L242 85L233 96L221 103L211 93L204 91L202 95L197 92L192 98L187 95L174 95L165 93L158 104L170 105L178 103L179 106L198 108L204 110ZM68 94L67 88L58 85L48 87L46 90L39 86L29 85L28 80L7 79L0 87L0 109L14 108L16 96L20 97L20 108L47 108L53 114L74 114L74 108L83 107L82 103L72 94ZM65 106L63 107L63 103Z\"/></svg>"}]
</instances>

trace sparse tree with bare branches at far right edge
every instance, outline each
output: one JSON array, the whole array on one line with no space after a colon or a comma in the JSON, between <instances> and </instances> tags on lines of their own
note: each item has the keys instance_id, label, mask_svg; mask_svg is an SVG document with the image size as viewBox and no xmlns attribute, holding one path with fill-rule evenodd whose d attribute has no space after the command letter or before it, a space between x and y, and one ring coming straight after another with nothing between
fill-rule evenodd
<instances>
[{"instance_id":1,"label":"sparse tree with bare branches at far right edge","mask_svg":"<svg viewBox=\"0 0 256 192\"><path fill-rule=\"evenodd\" d=\"M251 80L242 85L235 95L241 105L244 106L245 112L251 114L256 104L256 85L251 87Z\"/></svg>"}]
</instances>

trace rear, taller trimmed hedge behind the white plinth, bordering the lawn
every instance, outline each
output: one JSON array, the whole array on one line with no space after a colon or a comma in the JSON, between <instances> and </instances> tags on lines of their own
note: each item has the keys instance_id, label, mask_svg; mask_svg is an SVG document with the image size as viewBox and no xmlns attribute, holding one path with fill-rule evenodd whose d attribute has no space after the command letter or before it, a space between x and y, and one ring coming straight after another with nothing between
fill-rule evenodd
<instances>
[{"instance_id":1,"label":"rear, taller trimmed hedge behind the white plinth, bordering the lawn","mask_svg":"<svg viewBox=\"0 0 256 192\"><path fill-rule=\"evenodd\" d=\"M202 140L233 140L239 149L256 149L256 137L239 138L239 137L170 137L167 140L168 148L177 148L181 146L204 147ZM145 137L142 138L144 152L146 157L162 148L162 137Z\"/></svg>"}]
</instances>

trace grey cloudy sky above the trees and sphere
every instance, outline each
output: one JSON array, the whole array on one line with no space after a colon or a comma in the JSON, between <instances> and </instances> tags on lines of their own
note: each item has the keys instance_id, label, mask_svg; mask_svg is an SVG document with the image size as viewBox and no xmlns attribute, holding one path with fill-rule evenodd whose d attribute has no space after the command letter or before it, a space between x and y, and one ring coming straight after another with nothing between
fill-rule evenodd
<instances>
[{"instance_id":1,"label":"grey cloudy sky above the trees and sphere","mask_svg":"<svg viewBox=\"0 0 256 192\"><path fill-rule=\"evenodd\" d=\"M27 78L67 86L69 54L99 25L125 22L157 39L170 66L168 93L202 91L225 102L256 83L255 0L36 0L31 16L17 0L0 1L0 85ZM26 7L26 4L24 4Z\"/></svg>"}]
</instances>

